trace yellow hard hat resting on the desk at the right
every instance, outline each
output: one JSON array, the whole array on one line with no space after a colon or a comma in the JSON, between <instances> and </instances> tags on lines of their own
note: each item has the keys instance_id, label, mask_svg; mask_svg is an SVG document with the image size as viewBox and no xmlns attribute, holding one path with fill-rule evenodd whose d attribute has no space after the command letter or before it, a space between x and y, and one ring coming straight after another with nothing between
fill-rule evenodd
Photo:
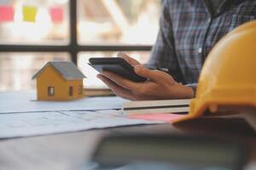
<instances>
[{"instance_id":1,"label":"yellow hard hat resting on the desk at the right","mask_svg":"<svg viewBox=\"0 0 256 170\"><path fill-rule=\"evenodd\" d=\"M221 106L256 109L256 20L230 31L212 48L189 114L176 122L218 112Z\"/></svg>"}]
</instances>

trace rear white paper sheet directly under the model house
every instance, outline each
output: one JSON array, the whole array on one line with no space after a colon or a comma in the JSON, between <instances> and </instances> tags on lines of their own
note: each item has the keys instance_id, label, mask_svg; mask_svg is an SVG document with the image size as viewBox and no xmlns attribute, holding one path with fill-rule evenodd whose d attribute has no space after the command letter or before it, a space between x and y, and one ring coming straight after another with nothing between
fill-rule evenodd
<instances>
[{"instance_id":1,"label":"rear white paper sheet directly under the model house","mask_svg":"<svg viewBox=\"0 0 256 170\"><path fill-rule=\"evenodd\" d=\"M37 101L35 91L3 92L0 94L0 114L29 111L94 111L121 109L125 99L95 97L73 101Z\"/></svg>"}]
</instances>

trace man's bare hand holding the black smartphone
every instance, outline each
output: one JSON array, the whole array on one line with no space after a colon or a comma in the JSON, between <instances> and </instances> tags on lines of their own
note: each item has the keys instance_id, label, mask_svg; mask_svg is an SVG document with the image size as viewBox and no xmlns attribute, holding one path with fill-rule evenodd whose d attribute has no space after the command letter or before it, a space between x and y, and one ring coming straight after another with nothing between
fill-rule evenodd
<instances>
[{"instance_id":1,"label":"man's bare hand holding the black smartphone","mask_svg":"<svg viewBox=\"0 0 256 170\"><path fill-rule=\"evenodd\" d=\"M192 88L175 82L172 76L166 72L149 70L140 65L136 59L125 54L119 54L119 57L133 65L137 75L148 78L148 81L131 82L112 72L102 71L97 77L105 82L114 94L131 100L189 99L194 97Z\"/></svg>"}]
</instances>

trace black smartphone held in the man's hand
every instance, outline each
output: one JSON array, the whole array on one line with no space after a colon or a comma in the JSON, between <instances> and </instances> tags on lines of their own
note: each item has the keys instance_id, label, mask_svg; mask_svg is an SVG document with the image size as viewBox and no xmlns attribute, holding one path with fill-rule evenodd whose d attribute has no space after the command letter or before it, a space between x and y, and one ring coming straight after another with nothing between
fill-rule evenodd
<instances>
[{"instance_id":1,"label":"black smartphone held in the man's hand","mask_svg":"<svg viewBox=\"0 0 256 170\"><path fill-rule=\"evenodd\" d=\"M121 77L125 77L133 82L145 82L147 78L138 76L125 59L122 58L90 58L88 65L96 71L111 71Z\"/></svg>"}]
</instances>

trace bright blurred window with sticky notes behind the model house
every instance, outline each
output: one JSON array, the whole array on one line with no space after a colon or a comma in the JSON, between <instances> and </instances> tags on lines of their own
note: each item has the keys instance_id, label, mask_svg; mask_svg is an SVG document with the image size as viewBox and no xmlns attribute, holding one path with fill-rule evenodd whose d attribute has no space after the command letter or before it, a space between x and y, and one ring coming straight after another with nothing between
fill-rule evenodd
<instances>
[{"instance_id":1,"label":"bright blurred window with sticky notes behind the model house","mask_svg":"<svg viewBox=\"0 0 256 170\"><path fill-rule=\"evenodd\" d=\"M88 77L84 88L106 88L87 65L88 59L113 57L123 51L145 63L158 31L160 3L0 0L0 91L35 88L33 74L52 60L75 62ZM41 50L44 46L50 50ZM64 50L73 46L77 48L75 53Z\"/></svg>"}]
</instances>

